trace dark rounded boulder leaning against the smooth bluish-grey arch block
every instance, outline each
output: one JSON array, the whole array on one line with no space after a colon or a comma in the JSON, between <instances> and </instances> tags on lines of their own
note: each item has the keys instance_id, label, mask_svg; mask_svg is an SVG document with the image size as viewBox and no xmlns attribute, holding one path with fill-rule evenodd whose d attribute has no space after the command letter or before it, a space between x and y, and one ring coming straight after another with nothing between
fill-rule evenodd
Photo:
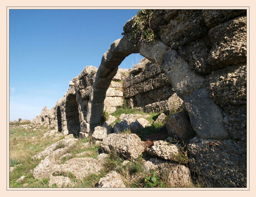
<instances>
[{"instance_id":1,"label":"dark rounded boulder leaning against the smooth bluish-grey arch block","mask_svg":"<svg viewBox=\"0 0 256 197\"><path fill-rule=\"evenodd\" d=\"M166 122L166 129L170 136L176 135L183 140L188 140L195 136L195 132L190 124L189 115L184 111L171 115Z\"/></svg>"}]
</instances>

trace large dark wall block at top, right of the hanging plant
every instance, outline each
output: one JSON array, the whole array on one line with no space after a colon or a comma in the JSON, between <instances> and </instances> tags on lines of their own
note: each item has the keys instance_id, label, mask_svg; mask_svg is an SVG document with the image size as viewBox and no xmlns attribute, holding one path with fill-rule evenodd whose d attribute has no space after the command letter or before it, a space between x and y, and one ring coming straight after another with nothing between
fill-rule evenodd
<instances>
[{"instance_id":1,"label":"large dark wall block at top, right of the hanging plant","mask_svg":"<svg viewBox=\"0 0 256 197\"><path fill-rule=\"evenodd\" d=\"M160 38L165 45L185 45L186 43L203 37L208 31L201 10L183 9L178 16L171 19L168 24L160 27Z\"/></svg>"}]
</instances>

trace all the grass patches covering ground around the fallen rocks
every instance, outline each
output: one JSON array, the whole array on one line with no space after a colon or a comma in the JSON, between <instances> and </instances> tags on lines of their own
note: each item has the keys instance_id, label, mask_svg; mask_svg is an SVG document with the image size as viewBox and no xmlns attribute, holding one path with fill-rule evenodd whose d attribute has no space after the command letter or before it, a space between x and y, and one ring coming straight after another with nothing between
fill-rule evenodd
<instances>
[{"instance_id":1,"label":"all the grass patches covering ground around the fallen rocks","mask_svg":"<svg viewBox=\"0 0 256 197\"><path fill-rule=\"evenodd\" d=\"M146 119L150 122L150 126L137 131L136 134L145 141L157 139L157 136L166 139L167 136L165 135L166 129L164 124L168 118L166 118L164 122L154 123L160 113L147 114L140 110L120 107L111 115L114 115L117 117L117 121L120 121L119 117L121 114L149 115ZM104 113L104 116L102 117L103 119L107 119L108 116L108 114ZM53 140L53 137L42 138L43 134L50 129L41 128L33 131L34 127L31 129L24 129L22 125L23 124L11 125L9 129L9 166L16 167L16 169L9 174L9 187L48 188L49 178L42 180L35 180L33 178L32 170L40 163L41 160L32 160L32 156L42 150L45 150L47 146L50 146L54 142L63 139L63 136L55 140ZM126 132L131 131L127 130ZM93 141L91 137L80 139L75 146L68 150L69 155L67 157L63 157L60 162L64 164L72 157L81 157L77 156L77 154L80 154L81 152L86 152L82 157L92 157L96 159L97 155L99 155L100 145L95 145L94 142L95 141ZM88 143L90 143L90 146L85 146L85 144ZM61 144L59 146L61 147ZM157 169L148 172L143 170L144 160L149 157L150 156L145 153L140 155L136 160L129 160L124 165L124 159L122 159L116 152L112 152L112 154L109 154L109 158L105 162L105 168L100 171L100 174L91 174L81 181L76 180L75 176L72 174L69 174L68 177L70 177L73 183L75 183L75 188L91 188L97 186L100 178L104 177L110 171L115 170L122 176L127 188L168 186L166 185L166 176L160 175ZM187 157L185 157L185 159L187 159ZM16 180L23 175L25 176L25 180L23 182L16 182ZM56 185L52 185L51 187L55 188Z\"/></svg>"}]
</instances>

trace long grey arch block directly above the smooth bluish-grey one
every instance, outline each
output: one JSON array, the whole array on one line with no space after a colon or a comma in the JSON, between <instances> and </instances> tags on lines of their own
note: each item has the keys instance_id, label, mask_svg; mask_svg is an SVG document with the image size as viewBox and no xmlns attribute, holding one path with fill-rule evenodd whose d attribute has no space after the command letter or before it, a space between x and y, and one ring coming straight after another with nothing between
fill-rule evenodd
<instances>
[{"instance_id":1,"label":"long grey arch block directly above the smooth bluish-grey one","mask_svg":"<svg viewBox=\"0 0 256 197\"><path fill-rule=\"evenodd\" d=\"M177 51L166 52L164 60L161 69L164 70L171 86L181 99L203 86L204 78L192 71L188 62L181 58Z\"/></svg>"}]
</instances>

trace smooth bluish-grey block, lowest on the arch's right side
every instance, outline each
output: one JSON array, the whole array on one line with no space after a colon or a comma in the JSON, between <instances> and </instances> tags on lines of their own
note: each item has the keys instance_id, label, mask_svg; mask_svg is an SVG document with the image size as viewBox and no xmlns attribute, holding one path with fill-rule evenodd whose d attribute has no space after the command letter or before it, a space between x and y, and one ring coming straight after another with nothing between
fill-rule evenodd
<instances>
[{"instance_id":1,"label":"smooth bluish-grey block, lowest on the arch's right side","mask_svg":"<svg viewBox=\"0 0 256 197\"><path fill-rule=\"evenodd\" d=\"M208 91L195 90L184 100L193 130L199 137L225 139L229 137L224 129L221 109L211 100Z\"/></svg>"}]
</instances>

